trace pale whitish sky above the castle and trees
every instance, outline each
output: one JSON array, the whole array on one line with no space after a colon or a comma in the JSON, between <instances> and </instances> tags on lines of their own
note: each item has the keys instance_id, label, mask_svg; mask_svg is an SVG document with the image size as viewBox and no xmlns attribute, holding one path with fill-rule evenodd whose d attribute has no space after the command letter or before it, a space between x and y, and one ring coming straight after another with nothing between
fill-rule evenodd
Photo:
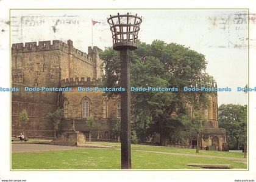
<instances>
[{"instance_id":1,"label":"pale whitish sky above the castle and trees","mask_svg":"<svg viewBox=\"0 0 256 182\"><path fill-rule=\"evenodd\" d=\"M218 87L232 88L218 92L219 105L247 104L247 94L236 92L247 84L246 10L12 10L11 43L71 39L82 52L104 50L112 46L107 18L118 12L142 16L138 37L147 44L176 42L205 55Z\"/></svg>"}]
</instances>

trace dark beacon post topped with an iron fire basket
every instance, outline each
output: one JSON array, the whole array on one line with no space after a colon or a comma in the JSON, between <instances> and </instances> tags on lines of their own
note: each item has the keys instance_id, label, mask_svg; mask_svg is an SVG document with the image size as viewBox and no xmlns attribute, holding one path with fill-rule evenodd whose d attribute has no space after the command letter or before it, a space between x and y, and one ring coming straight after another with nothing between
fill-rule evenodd
<instances>
[{"instance_id":1,"label":"dark beacon post topped with an iron fire basket","mask_svg":"<svg viewBox=\"0 0 256 182\"><path fill-rule=\"evenodd\" d=\"M107 19L113 39L113 49L121 58L121 169L131 169L130 157L130 53L137 49L141 17L136 15L116 15Z\"/></svg>"}]
</instances>

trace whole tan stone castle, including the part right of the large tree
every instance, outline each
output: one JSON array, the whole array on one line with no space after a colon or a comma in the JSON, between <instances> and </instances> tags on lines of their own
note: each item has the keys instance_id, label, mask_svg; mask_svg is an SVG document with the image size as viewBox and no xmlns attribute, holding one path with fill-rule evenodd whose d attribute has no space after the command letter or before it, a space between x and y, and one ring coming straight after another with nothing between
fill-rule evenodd
<instances>
[{"instance_id":1,"label":"whole tan stone castle, including the part right of the large tree","mask_svg":"<svg viewBox=\"0 0 256 182\"><path fill-rule=\"evenodd\" d=\"M70 129L70 119L75 129L91 138L113 139L113 123L120 118L120 99L107 98L104 92L79 92L78 87L96 87L103 75L103 61L99 58L98 47L88 47L88 53L81 52L68 40L41 41L12 44L12 135L25 132L26 136L53 138L55 136L52 118L48 112L63 109L64 120L60 132ZM24 87L72 88L72 92L25 92ZM217 146L222 149L226 143L224 129L219 129L217 120L217 95L210 97L210 107L205 110L208 123L200 146ZM24 126L19 121L20 112L26 109L29 122ZM87 118L93 116L95 124L89 126ZM188 140L194 144L196 140Z\"/></svg>"}]
</instances>

